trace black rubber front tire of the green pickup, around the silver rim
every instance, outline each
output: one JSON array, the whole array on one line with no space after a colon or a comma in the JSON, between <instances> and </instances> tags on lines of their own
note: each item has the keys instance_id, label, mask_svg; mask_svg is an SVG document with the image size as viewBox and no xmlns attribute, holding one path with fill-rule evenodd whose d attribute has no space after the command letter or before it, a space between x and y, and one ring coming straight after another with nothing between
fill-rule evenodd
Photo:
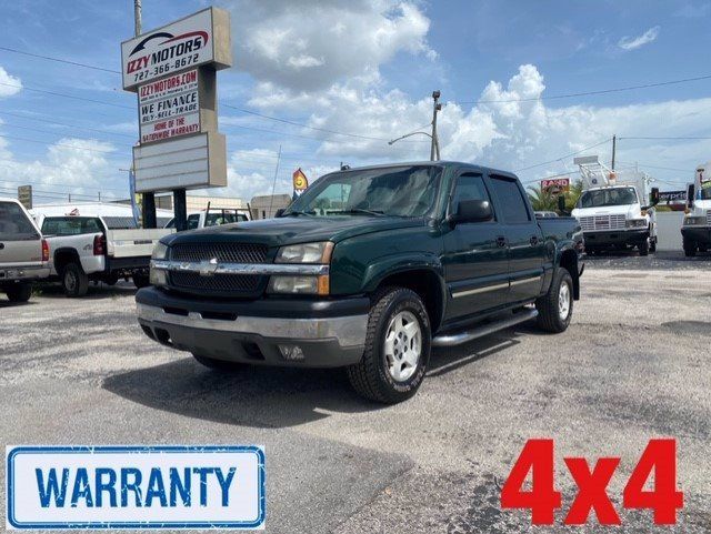
<instances>
[{"instance_id":1,"label":"black rubber front tire of the green pickup, around the silver rim","mask_svg":"<svg viewBox=\"0 0 711 534\"><path fill-rule=\"evenodd\" d=\"M348 367L348 377L356 392L361 396L383 404L395 404L414 395L424 380L432 342L430 318L420 295L408 289L384 288L374 295L372 302L373 305L368 315L363 357L359 363ZM392 326L391 321L402 312L405 312L405 316L414 318L418 322L420 351L417 364L408 365L407 372L411 374L405 380L398 381L392 376L391 365L384 349L385 336ZM405 351L408 351L412 346L412 344L408 344L409 341L412 340L404 337L403 341L400 340L395 343L404 342ZM398 349L395 349L395 356L398 355L397 351ZM400 352L400 355L402 356L403 353ZM399 362L400 372L402 372L402 363L400 360ZM392 366L395 365L398 362L393 360Z\"/></svg>"}]
</instances>

